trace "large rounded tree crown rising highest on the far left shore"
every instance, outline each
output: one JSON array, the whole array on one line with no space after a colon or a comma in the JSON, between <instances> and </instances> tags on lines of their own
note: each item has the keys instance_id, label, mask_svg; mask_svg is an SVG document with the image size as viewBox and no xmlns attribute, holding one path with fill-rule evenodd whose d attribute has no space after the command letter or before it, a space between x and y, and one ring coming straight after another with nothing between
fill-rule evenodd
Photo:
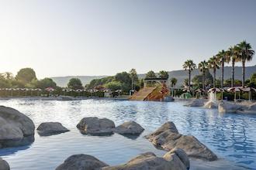
<instances>
[{"instance_id":1,"label":"large rounded tree crown rising highest on the far left shore","mask_svg":"<svg viewBox=\"0 0 256 170\"><path fill-rule=\"evenodd\" d=\"M36 80L36 73L31 68L23 68L17 73L16 80L20 80L23 83L30 83L32 80Z\"/></svg>"}]
</instances>

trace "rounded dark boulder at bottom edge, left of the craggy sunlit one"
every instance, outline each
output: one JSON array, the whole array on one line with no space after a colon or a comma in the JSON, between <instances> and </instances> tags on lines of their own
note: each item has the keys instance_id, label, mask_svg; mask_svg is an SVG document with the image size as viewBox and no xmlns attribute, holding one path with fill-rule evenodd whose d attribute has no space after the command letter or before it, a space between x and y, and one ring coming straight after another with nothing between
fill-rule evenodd
<instances>
[{"instance_id":1,"label":"rounded dark boulder at bottom edge, left of the craggy sunlit one","mask_svg":"<svg viewBox=\"0 0 256 170\"><path fill-rule=\"evenodd\" d=\"M91 155L71 155L56 170L95 170L109 166Z\"/></svg>"}]
</instances>

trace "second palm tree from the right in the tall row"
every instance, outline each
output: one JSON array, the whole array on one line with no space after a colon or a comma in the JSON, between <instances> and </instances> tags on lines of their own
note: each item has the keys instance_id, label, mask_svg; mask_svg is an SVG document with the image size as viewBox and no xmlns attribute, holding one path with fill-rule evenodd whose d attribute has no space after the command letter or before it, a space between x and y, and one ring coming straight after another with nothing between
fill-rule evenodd
<instances>
[{"instance_id":1,"label":"second palm tree from the right in the tall row","mask_svg":"<svg viewBox=\"0 0 256 170\"><path fill-rule=\"evenodd\" d=\"M231 87L234 87L234 65L239 62L239 48L237 46L230 46L227 50L227 62L232 63L232 79L231 79Z\"/></svg>"}]
</instances>

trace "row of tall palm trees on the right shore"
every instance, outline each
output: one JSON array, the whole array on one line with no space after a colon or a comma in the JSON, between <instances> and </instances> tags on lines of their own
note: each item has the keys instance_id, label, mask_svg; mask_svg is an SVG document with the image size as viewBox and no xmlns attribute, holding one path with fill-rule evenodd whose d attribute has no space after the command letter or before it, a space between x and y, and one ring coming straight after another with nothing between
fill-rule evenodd
<instances>
[{"instance_id":1,"label":"row of tall palm trees on the right shore","mask_svg":"<svg viewBox=\"0 0 256 170\"><path fill-rule=\"evenodd\" d=\"M211 87L216 87L217 80L216 80L216 70L221 68L221 80L220 80L220 87L224 87L224 66L225 63L231 63L232 65L232 78L230 80L231 87L236 85L236 81L234 80L234 67L235 64L240 62L242 63L242 77L241 77L241 86L244 87L245 83L250 86L250 80L245 81L245 63L251 61L254 56L254 50L251 47L250 43L246 41L242 41L235 46L230 46L227 50L221 50L216 55L209 58L208 61L203 60L196 66L196 64L192 61L192 59L188 59L183 64L183 68L188 71L189 73L189 80L188 86L189 90L191 88L191 73L192 70L198 68L199 71L202 73L202 89L206 89L206 76L209 75L209 70L213 70L213 83ZM251 84L252 85L252 84Z\"/></svg>"}]
</instances>

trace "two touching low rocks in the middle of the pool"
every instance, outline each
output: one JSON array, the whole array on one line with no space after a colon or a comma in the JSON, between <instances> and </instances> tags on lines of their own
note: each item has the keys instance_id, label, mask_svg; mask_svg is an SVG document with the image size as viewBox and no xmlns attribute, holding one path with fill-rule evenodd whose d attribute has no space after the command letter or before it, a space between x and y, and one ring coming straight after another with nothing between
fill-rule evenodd
<instances>
[{"instance_id":1,"label":"two touching low rocks in the middle of the pool","mask_svg":"<svg viewBox=\"0 0 256 170\"><path fill-rule=\"evenodd\" d=\"M137 124L135 121L126 121L116 127L115 123L107 118L98 117L84 117L78 123L77 128L84 134L102 135L112 134L114 132L118 134L140 134L144 131L144 128Z\"/></svg>"}]
</instances>

